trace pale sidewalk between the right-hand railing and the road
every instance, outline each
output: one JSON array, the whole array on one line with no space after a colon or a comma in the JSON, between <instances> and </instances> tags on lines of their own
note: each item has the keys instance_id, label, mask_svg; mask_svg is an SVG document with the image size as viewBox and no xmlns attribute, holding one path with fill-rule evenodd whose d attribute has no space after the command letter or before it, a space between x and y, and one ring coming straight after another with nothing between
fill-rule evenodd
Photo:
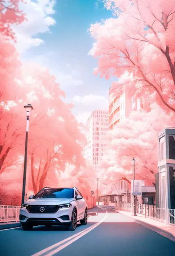
<instances>
[{"instance_id":1,"label":"pale sidewalk between the right-hand railing and the road","mask_svg":"<svg viewBox=\"0 0 175 256\"><path fill-rule=\"evenodd\" d=\"M166 238L175 242L175 226L168 226L160 221L155 221L154 219L145 218L143 215L138 214L137 216L133 216L131 212L116 210L120 214L123 214L136 223L144 226L145 228L151 229L158 234L165 236Z\"/></svg>"}]
</instances>

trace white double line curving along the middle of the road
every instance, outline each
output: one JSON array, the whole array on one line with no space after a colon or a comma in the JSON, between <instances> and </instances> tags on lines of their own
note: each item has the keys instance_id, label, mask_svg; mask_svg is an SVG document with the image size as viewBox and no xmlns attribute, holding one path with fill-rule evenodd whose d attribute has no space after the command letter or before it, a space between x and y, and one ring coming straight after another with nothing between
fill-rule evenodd
<instances>
[{"instance_id":1,"label":"white double line curving along the middle of the road","mask_svg":"<svg viewBox=\"0 0 175 256\"><path fill-rule=\"evenodd\" d=\"M98 206L98 207L102 208L100 206ZM106 211L106 209L105 209L105 211ZM52 256L52 255L54 255L55 253L59 252L60 250L64 249L65 247L67 247L71 243L75 242L76 240L78 240L82 236L86 235L87 233L89 233L90 231L95 229L98 225L100 225L104 221L104 219L106 219L106 217L107 217L107 211L106 211L106 215L104 216L104 218L101 221L97 222L96 224L90 226L89 228L86 228L85 230L83 230L83 231L81 231L81 232L79 232L79 233L77 233L77 234L75 234L73 236L70 236L69 238L66 238L66 239L64 239L64 240L62 240L62 241L60 241L58 243L55 243L54 245L49 246L48 248L45 248L44 250L41 250L40 252L35 253L32 256L40 256L40 255ZM58 248L56 248L55 250L52 250L55 247L58 247Z\"/></svg>"}]
</instances>

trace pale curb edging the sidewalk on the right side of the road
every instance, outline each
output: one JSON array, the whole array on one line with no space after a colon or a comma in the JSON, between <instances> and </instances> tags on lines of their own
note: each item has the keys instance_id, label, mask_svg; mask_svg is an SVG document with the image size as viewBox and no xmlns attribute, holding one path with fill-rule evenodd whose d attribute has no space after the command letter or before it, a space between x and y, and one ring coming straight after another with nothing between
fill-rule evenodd
<instances>
[{"instance_id":1,"label":"pale curb edging the sidewalk on the right side of the road","mask_svg":"<svg viewBox=\"0 0 175 256\"><path fill-rule=\"evenodd\" d=\"M175 236L172 235L170 232L165 231L165 230L163 230L161 228L158 228L156 226L153 226L152 224L146 223L144 221L140 221L138 219L135 219L134 217L128 216L128 215L126 215L122 212L119 212L119 211L117 211L117 212L120 213L120 214L123 214L124 216L127 216L128 218L130 218L132 221L136 222L137 224L140 224L140 225L144 226L145 228L151 229L152 231L158 233L159 235L164 236L164 237L170 239L171 241L175 242Z\"/></svg>"}]
</instances>

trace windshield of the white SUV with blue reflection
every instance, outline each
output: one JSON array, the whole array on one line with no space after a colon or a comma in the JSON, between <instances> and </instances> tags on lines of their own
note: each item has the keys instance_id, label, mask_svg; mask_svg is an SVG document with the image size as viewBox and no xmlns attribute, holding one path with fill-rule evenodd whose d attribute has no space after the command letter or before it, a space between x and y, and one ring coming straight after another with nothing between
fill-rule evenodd
<instances>
[{"instance_id":1,"label":"windshield of the white SUV with blue reflection","mask_svg":"<svg viewBox=\"0 0 175 256\"><path fill-rule=\"evenodd\" d=\"M72 188L48 188L39 191L34 198L73 198L74 190Z\"/></svg>"}]
</instances>

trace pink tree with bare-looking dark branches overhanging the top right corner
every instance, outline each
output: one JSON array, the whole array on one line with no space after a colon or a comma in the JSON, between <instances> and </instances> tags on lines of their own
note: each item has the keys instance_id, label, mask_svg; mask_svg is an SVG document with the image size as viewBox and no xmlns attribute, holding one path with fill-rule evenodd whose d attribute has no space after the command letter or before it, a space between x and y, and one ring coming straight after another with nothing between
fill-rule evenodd
<instances>
[{"instance_id":1,"label":"pink tree with bare-looking dark branches overhanging the top right corner","mask_svg":"<svg viewBox=\"0 0 175 256\"><path fill-rule=\"evenodd\" d=\"M117 17L89 29L96 40L90 51L98 57L95 74L121 76L114 89L175 112L174 0L104 2Z\"/></svg>"}]
</instances>

